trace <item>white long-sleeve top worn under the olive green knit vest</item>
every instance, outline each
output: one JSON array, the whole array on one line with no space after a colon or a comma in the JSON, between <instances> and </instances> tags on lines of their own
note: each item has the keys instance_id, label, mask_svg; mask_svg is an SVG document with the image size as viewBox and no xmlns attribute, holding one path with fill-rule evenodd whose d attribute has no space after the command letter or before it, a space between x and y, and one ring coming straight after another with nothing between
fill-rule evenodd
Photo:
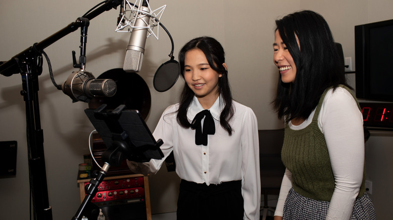
<instances>
[{"instance_id":1,"label":"white long-sleeve top worn under the olive green knit vest","mask_svg":"<svg viewBox=\"0 0 393 220\"><path fill-rule=\"evenodd\" d=\"M289 122L289 128L307 127L314 113L315 109L298 126ZM348 90L338 87L326 93L318 115L318 127L324 135L335 178L326 219L350 219L363 179L364 131L362 113ZM286 170L275 215L283 216L284 202L292 187L291 177L291 172Z\"/></svg>"}]
</instances>

